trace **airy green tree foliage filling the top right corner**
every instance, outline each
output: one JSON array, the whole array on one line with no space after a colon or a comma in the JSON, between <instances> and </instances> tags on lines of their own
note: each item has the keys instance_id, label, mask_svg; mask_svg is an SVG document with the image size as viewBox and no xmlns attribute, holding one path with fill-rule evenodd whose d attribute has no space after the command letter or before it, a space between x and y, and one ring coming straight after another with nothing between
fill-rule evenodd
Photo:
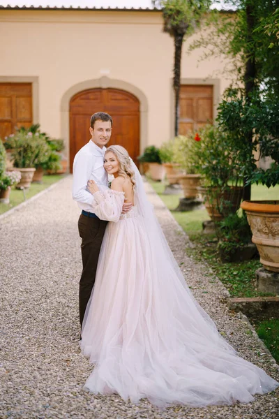
<instances>
[{"instance_id":1,"label":"airy green tree foliage filling the top right corner","mask_svg":"<svg viewBox=\"0 0 279 419\"><path fill-rule=\"evenodd\" d=\"M256 88L278 98L278 0L224 0L224 3L234 6L236 11L212 10L204 16L206 30L200 32L190 50L204 47L203 59L223 55L229 61L226 71L230 69L235 85L246 87L247 94Z\"/></svg>"}]
</instances>

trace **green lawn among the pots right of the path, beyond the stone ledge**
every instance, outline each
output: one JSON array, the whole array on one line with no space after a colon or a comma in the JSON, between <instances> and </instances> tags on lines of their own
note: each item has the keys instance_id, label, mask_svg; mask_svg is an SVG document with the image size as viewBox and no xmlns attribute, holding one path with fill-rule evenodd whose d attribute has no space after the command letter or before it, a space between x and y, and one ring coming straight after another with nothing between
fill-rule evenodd
<instances>
[{"instance_id":1,"label":"green lawn among the pots right of the path, beyond the stone ledge","mask_svg":"<svg viewBox=\"0 0 279 419\"><path fill-rule=\"evenodd\" d=\"M262 265L258 259L239 263L222 263L217 249L216 235L202 233L202 221L209 220L206 210L191 212L176 212L174 209L179 204L179 196L164 195L165 184L153 182L148 179L153 189L158 193L165 205L172 212L176 221L181 225L195 247L186 248L186 253L195 260L204 261L210 265L213 272L229 290L233 297L256 297L263 295L255 290L255 271ZM275 188L266 188L262 185L252 185L252 199L266 200L279 198L279 185ZM271 295L271 294L264 294Z\"/></svg>"}]
</instances>

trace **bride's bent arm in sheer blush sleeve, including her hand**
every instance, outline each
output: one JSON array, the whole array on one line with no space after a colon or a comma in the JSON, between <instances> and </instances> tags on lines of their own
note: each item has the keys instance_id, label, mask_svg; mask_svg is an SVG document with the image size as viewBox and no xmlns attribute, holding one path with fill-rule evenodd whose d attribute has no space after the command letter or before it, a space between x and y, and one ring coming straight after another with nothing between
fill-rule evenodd
<instances>
[{"instance_id":1,"label":"bride's bent arm in sheer blush sleeve, including her hand","mask_svg":"<svg viewBox=\"0 0 279 419\"><path fill-rule=\"evenodd\" d=\"M118 178L112 181L112 190L99 191L95 182L89 181L87 189L93 194L93 211L101 220L118 221L122 212L124 192Z\"/></svg>"}]
</instances>

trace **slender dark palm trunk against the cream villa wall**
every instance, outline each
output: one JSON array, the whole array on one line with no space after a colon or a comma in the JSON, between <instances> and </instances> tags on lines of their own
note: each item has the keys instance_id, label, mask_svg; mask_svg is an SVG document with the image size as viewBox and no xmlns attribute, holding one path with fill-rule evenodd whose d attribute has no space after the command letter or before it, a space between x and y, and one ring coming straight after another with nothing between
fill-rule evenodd
<instances>
[{"instance_id":1,"label":"slender dark palm trunk against the cream villa wall","mask_svg":"<svg viewBox=\"0 0 279 419\"><path fill-rule=\"evenodd\" d=\"M175 121L174 133L179 134L179 94L180 94L180 73L181 73L181 50L183 44L183 36L174 36L174 103L175 103Z\"/></svg>"}]
</instances>

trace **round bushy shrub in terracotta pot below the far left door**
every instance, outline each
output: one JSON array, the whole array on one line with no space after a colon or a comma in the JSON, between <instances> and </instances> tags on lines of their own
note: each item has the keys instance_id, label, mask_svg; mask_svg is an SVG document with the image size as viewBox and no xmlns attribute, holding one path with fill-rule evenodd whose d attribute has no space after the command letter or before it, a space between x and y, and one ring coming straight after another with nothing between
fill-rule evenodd
<instances>
[{"instance_id":1,"label":"round bushy shrub in terracotta pot below the far left door","mask_svg":"<svg viewBox=\"0 0 279 419\"><path fill-rule=\"evenodd\" d=\"M11 149L13 166L21 172L22 178L16 185L17 189L29 188L36 166L45 161L47 154L47 144L40 135L26 132L24 129L18 130L15 134L10 134L4 143L5 147Z\"/></svg>"}]
</instances>

